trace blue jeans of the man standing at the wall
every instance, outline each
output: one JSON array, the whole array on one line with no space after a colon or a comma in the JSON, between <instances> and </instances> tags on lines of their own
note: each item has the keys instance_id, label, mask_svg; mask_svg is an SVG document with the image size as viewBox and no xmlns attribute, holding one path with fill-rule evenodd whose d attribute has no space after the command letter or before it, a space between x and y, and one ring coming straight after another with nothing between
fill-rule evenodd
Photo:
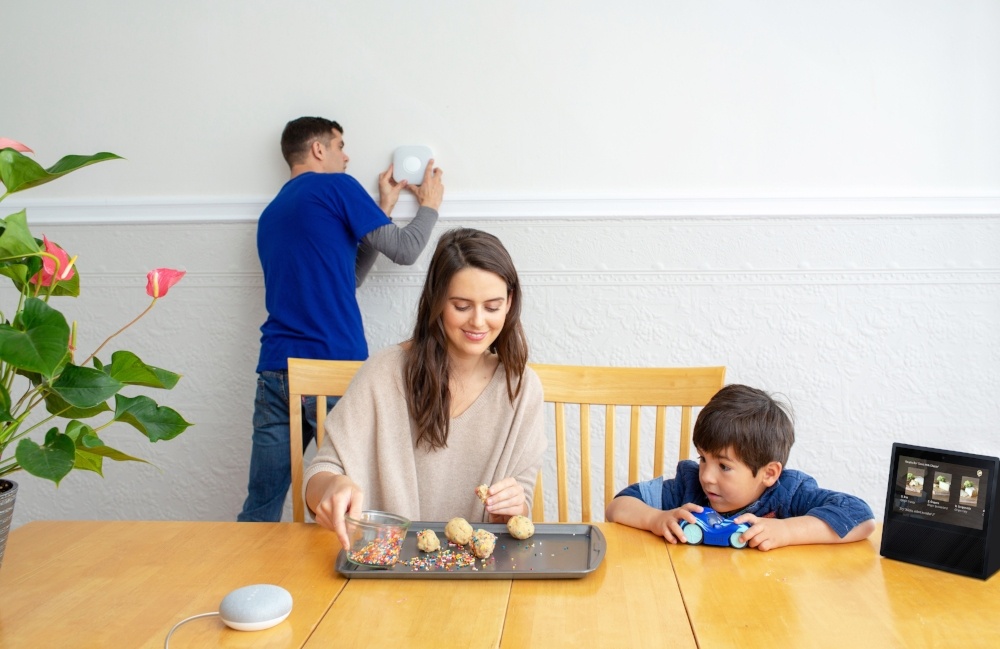
<instances>
[{"instance_id":1,"label":"blue jeans of the man standing at the wall","mask_svg":"<svg viewBox=\"0 0 1000 649\"><path fill-rule=\"evenodd\" d=\"M327 408L339 397L327 397ZM302 448L316 438L316 398L302 400ZM281 520L285 496L292 483L292 456L289 450L288 372L268 371L257 375L257 396L253 409L253 450L250 453L250 481L247 499L238 521Z\"/></svg>"}]
</instances>

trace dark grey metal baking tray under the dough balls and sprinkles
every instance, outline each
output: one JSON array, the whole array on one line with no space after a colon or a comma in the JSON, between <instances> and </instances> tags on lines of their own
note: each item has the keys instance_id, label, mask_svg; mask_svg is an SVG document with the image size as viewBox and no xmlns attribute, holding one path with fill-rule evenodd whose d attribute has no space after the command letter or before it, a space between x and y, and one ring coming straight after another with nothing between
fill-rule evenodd
<instances>
[{"instance_id":1,"label":"dark grey metal baking tray under the dough balls and sprinkles","mask_svg":"<svg viewBox=\"0 0 1000 649\"><path fill-rule=\"evenodd\" d=\"M400 548L399 561L390 568L359 566L347 560L343 550L337 555L337 572L348 579L578 579L601 565L607 541L601 530L588 524L535 523L535 534L524 541L515 539L501 523L473 524L497 536L493 555L476 559L461 568L416 568L410 559L433 559L439 552L417 550L417 532L434 530L441 539L442 552L457 551L444 536L443 522L414 521Z\"/></svg>"}]
</instances>

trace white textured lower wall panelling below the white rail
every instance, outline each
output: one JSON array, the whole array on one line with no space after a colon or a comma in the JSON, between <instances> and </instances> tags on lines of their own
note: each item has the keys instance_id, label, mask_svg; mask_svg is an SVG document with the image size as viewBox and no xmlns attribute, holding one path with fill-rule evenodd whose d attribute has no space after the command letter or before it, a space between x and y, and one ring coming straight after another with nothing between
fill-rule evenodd
<instances>
[{"instance_id":1,"label":"white textured lower wall panelling below the white rail","mask_svg":"<svg viewBox=\"0 0 1000 649\"><path fill-rule=\"evenodd\" d=\"M447 218L435 236L465 225L505 242L524 284L532 360L725 365L729 382L790 402L792 468L864 497L878 516L893 441L1000 452L998 215L586 216ZM59 305L79 322L81 353L145 308L146 271L187 269L103 355L125 347L182 372L177 388L156 396L195 426L154 445L126 426L105 431L151 464L108 462L103 480L77 472L56 489L17 474L15 525L233 519L245 496L264 317L255 224L35 230L79 255L83 298ZM409 335L428 257L407 268L380 260L361 287L373 349ZM10 298L0 288L3 308ZM598 445L594 455L600 476ZM652 477L651 462L642 471ZM616 479L624 486L624 474Z\"/></svg>"}]
</instances>

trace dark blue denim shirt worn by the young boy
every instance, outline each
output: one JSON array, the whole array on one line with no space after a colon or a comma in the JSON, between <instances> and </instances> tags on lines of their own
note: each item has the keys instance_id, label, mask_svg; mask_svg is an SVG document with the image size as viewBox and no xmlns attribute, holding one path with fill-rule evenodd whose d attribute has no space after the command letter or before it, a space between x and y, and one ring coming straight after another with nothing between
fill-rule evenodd
<instances>
[{"instance_id":1,"label":"dark blue denim shirt worn by the young boy","mask_svg":"<svg viewBox=\"0 0 1000 649\"><path fill-rule=\"evenodd\" d=\"M677 473L671 480L654 478L637 482L622 489L615 498L618 496L638 498L650 507L663 511L686 503L711 506L698 480L698 463L694 460L679 462ZM768 487L756 502L738 512L719 513L727 518L747 513L759 518L815 516L833 528L840 538L844 538L859 523L875 517L871 507L860 498L820 489L812 476L793 469L782 471L778 481Z\"/></svg>"}]
</instances>

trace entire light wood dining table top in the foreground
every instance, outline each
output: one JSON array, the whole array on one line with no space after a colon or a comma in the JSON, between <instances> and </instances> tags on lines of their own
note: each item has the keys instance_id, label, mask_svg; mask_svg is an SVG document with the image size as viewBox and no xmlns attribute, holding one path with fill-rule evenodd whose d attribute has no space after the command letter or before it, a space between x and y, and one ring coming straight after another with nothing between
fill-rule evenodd
<instances>
[{"instance_id":1,"label":"entire light wood dining table top in the foreground","mask_svg":"<svg viewBox=\"0 0 1000 649\"><path fill-rule=\"evenodd\" d=\"M36 521L0 566L0 647L161 647L231 590L286 588L263 631L195 619L182 647L1000 646L1000 577L879 556L879 532L770 552L669 545L597 523L606 555L574 579L347 579L309 523Z\"/></svg>"}]
</instances>

